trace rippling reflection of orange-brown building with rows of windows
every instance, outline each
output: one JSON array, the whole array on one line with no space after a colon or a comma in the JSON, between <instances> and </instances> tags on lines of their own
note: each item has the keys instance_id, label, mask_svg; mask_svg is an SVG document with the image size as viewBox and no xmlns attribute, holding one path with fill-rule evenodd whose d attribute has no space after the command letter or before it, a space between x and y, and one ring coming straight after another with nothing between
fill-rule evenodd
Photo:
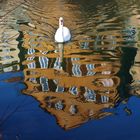
<instances>
[{"instance_id":1,"label":"rippling reflection of orange-brown building with rows of windows","mask_svg":"<svg viewBox=\"0 0 140 140\"><path fill-rule=\"evenodd\" d=\"M58 51L47 42L31 46L28 42L33 38L35 36L24 35L23 47L27 49L27 60L23 62L27 85L24 93L35 97L65 129L110 115L102 110L113 107L119 99L120 80L115 76L120 67L119 59L111 60L112 53L106 52L91 55L91 50L81 50L78 44Z\"/></svg>"}]
</instances>

